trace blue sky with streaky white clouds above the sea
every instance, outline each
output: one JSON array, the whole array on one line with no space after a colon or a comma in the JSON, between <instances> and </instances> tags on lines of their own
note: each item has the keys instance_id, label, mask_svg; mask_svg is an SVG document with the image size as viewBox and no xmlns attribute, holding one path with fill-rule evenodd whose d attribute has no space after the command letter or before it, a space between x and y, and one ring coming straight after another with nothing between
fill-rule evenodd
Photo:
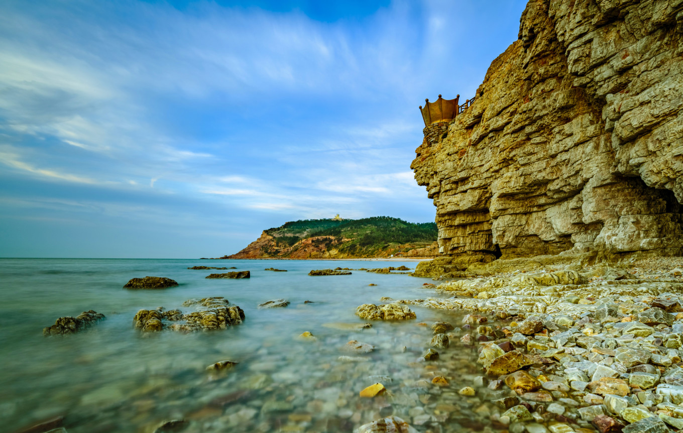
<instances>
[{"instance_id":1,"label":"blue sky with streaky white clouds above the sea","mask_svg":"<svg viewBox=\"0 0 683 433\"><path fill-rule=\"evenodd\" d=\"M434 221L425 98L526 1L0 2L0 257L198 258L285 221Z\"/></svg>"}]
</instances>

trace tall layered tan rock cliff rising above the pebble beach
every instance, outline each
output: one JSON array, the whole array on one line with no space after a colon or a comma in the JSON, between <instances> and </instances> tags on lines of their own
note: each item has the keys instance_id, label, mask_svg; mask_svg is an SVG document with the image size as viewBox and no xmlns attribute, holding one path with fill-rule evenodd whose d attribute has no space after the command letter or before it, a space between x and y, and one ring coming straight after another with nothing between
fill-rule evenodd
<instances>
[{"instance_id":1,"label":"tall layered tan rock cliff rising above the pebble beach","mask_svg":"<svg viewBox=\"0 0 683 433\"><path fill-rule=\"evenodd\" d=\"M411 165L440 253L683 253L683 0L530 0L476 96Z\"/></svg>"}]
</instances>

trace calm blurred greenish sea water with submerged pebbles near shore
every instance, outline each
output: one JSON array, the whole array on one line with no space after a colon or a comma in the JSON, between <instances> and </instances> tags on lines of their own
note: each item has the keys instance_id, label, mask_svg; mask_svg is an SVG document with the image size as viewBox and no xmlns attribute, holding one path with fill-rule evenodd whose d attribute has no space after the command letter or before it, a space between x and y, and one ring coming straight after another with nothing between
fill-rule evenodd
<instances>
[{"instance_id":1,"label":"calm blurred greenish sea water with submerged pebbles near shore","mask_svg":"<svg viewBox=\"0 0 683 433\"><path fill-rule=\"evenodd\" d=\"M390 413L420 431L480 431L496 408L490 398L462 397L479 374L476 354L451 342L441 359L416 362L429 347L431 324L458 326L463 313L413 307L417 320L374 322L372 329L343 331L330 322L363 323L358 305L380 297L434 296L430 279L408 275L309 277L311 269L415 267L415 262L266 260L0 260L0 430L64 415L70 433L152 432L170 419L191 421L188 432L342 432ZM251 279L205 279L214 272L189 266L236 266ZM264 268L287 269L274 273ZM180 286L125 290L128 279L169 277ZM376 283L376 286L368 286ZM245 311L245 322L225 331L141 335L133 330L139 309L180 308L190 298L224 296ZM286 308L257 309L273 298ZM304 301L313 303L304 304ZM42 336L60 316L94 309L107 320L66 337ZM297 336L309 331L316 341ZM457 330L456 330L457 331ZM357 339L376 346L365 362L344 362L340 348ZM405 346L405 347L404 347ZM210 376L205 367L230 359L239 364ZM446 376L448 387L430 380ZM382 377L375 377L382 376ZM359 397L382 382L386 395ZM480 391L484 394L486 390ZM482 399L484 402L482 402Z\"/></svg>"}]
</instances>

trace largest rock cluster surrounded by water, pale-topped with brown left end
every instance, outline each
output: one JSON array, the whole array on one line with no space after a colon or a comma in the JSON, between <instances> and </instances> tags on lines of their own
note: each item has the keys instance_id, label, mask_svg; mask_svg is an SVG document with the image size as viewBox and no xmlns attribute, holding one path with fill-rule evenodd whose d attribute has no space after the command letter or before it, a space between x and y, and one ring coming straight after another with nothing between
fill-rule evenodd
<instances>
[{"instance_id":1,"label":"largest rock cluster surrounded by water, pale-topped with brown left end","mask_svg":"<svg viewBox=\"0 0 683 433\"><path fill-rule=\"evenodd\" d=\"M133 327L144 332L169 329L189 333L227 329L228 326L240 324L245 320L245 312L236 305L229 305L229 301L222 296L189 299L182 305L195 307L197 311L183 314L179 309L165 310L163 307L153 310L141 309L133 318Z\"/></svg>"}]
</instances>

